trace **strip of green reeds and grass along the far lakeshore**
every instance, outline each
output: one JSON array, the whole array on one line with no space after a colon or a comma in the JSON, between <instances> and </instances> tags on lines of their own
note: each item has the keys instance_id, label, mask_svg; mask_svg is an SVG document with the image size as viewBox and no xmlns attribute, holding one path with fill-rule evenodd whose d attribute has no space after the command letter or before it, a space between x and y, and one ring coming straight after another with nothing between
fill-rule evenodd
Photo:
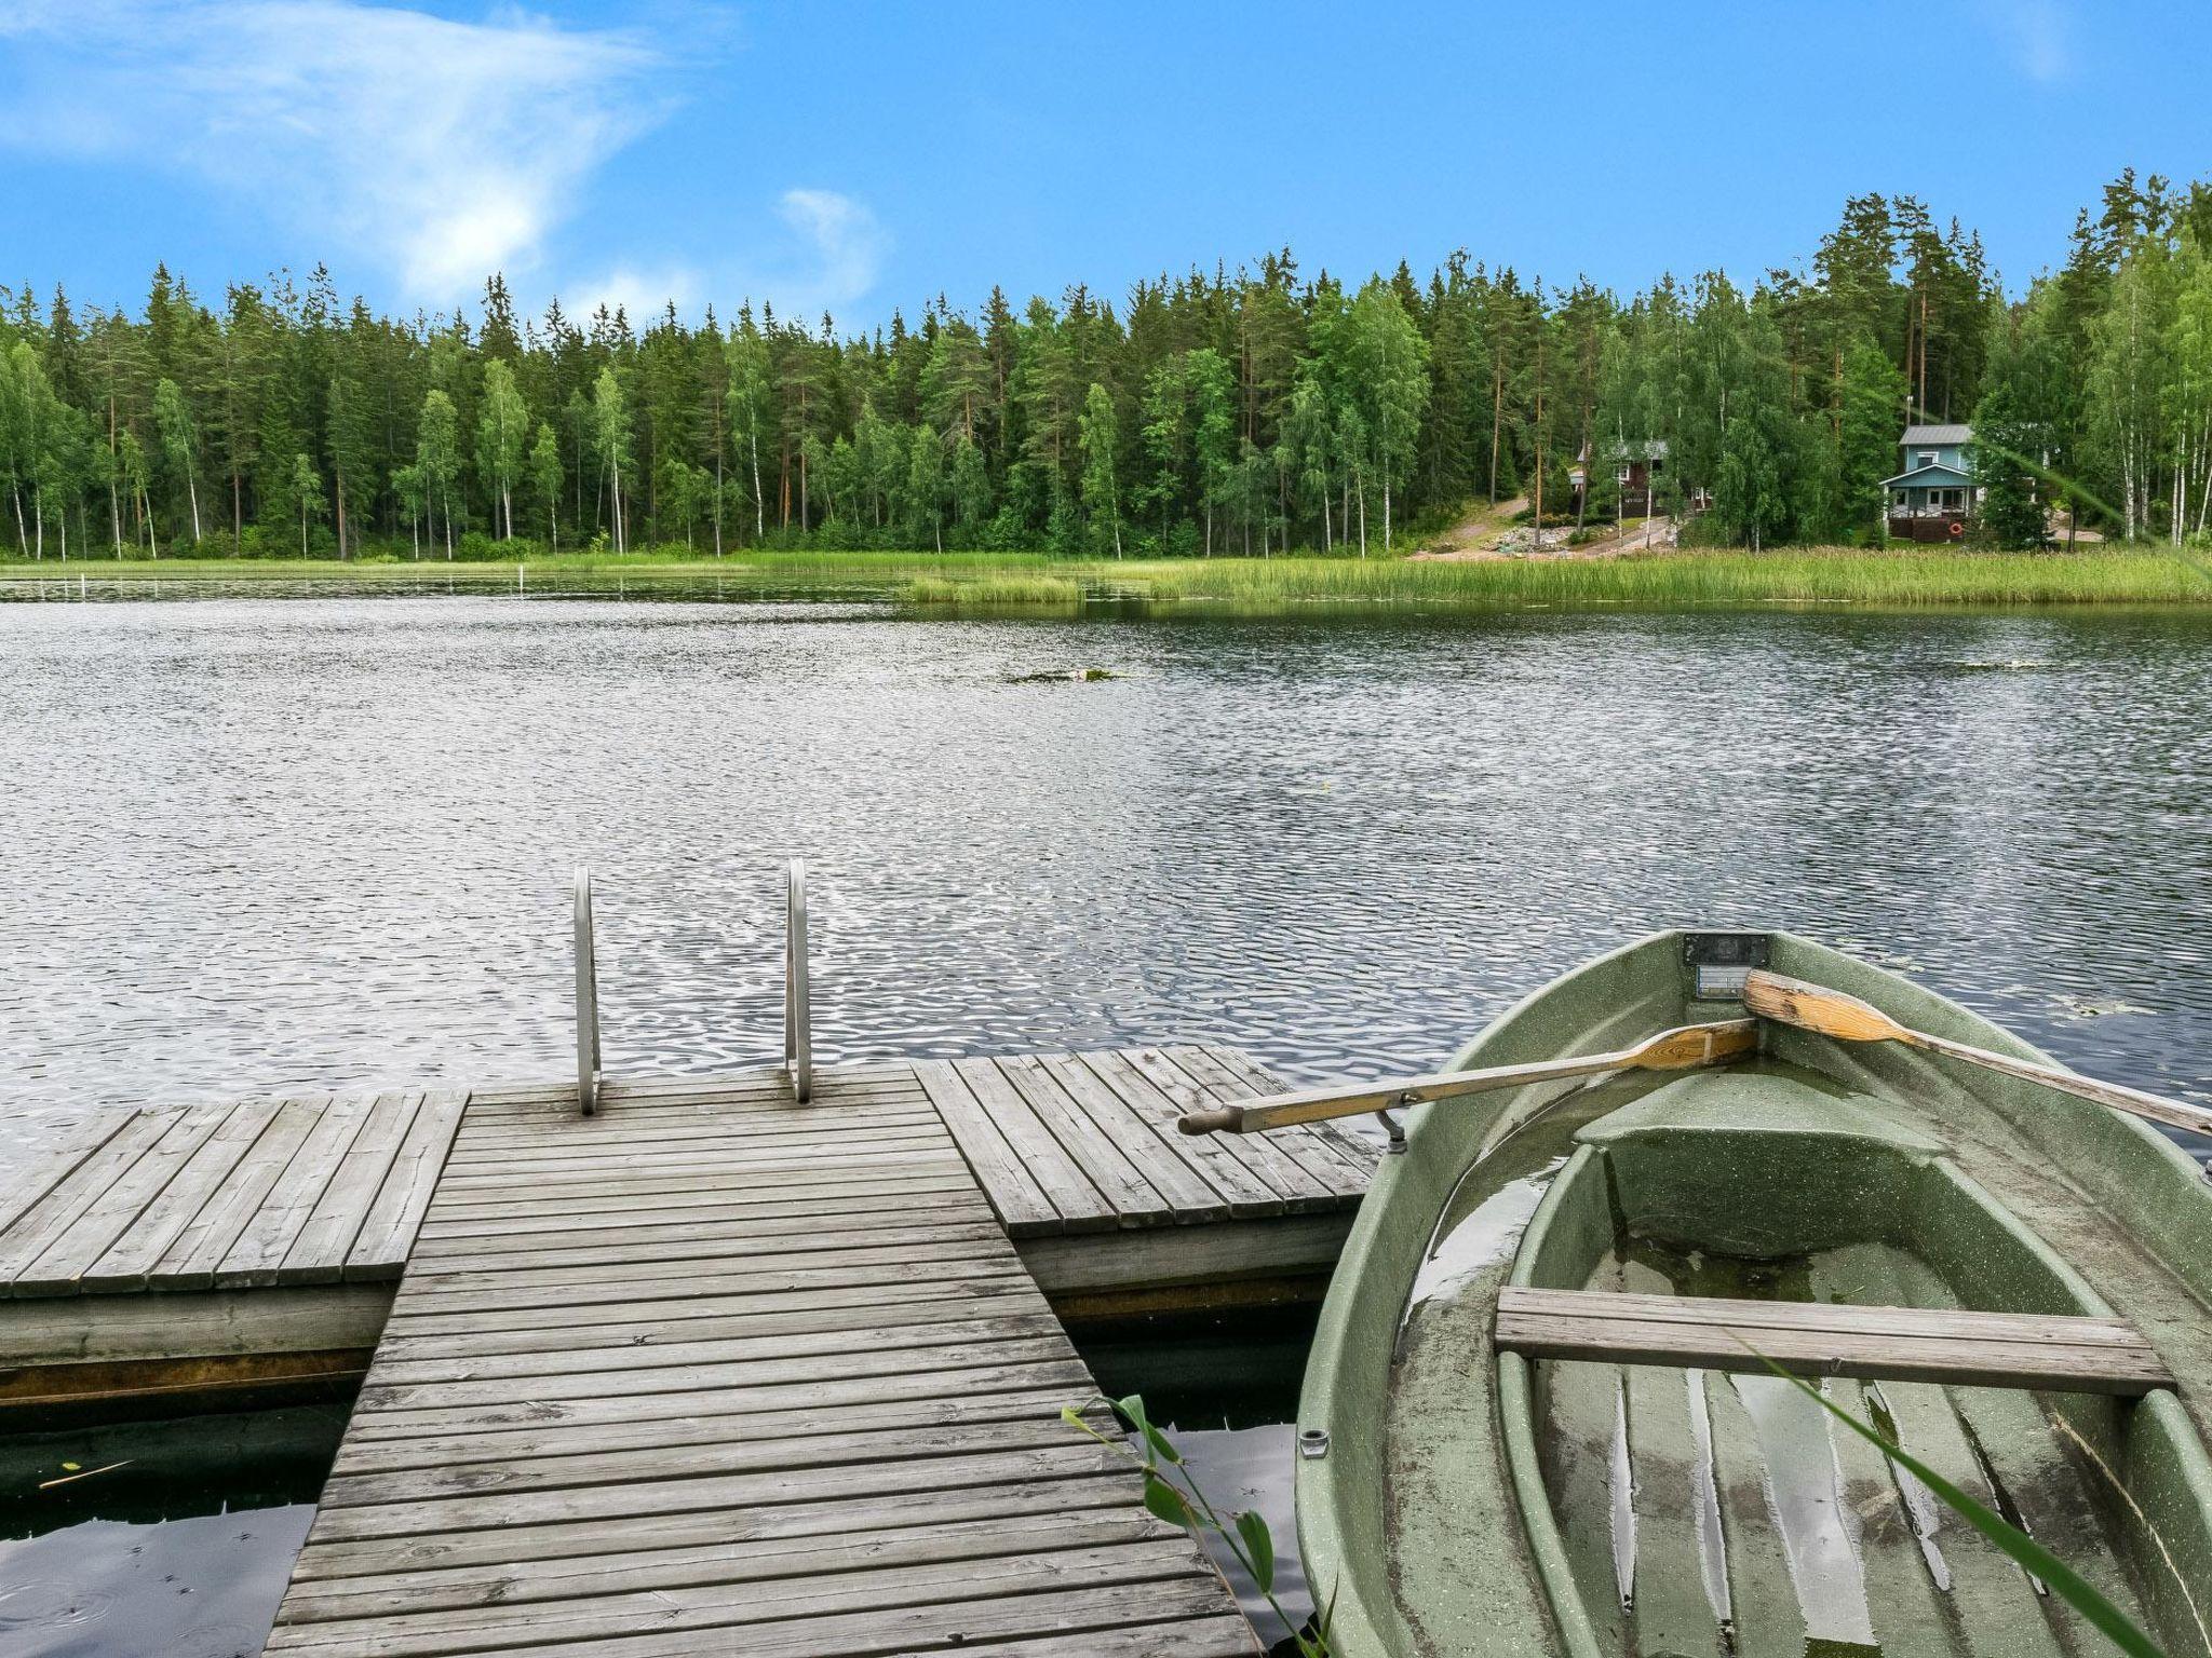
<instances>
[{"instance_id":1,"label":"strip of green reeds and grass along the far lakeshore","mask_svg":"<svg viewBox=\"0 0 2212 1658\"><path fill-rule=\"evenodd\" d=\"M2199 606L2212 604L2212 564L2159 548L2081 553L1962 553L1785 548L1776 553L1655 553L1624 559L1055 559L1042 553L732 553L677 548L626 557L564 553L526 564L526 579L712 579L723 590L779 597L885 597L927 608L1051 604L1084 597L1279 608L1303 604L1436 606ZM71 559L0 564L7 579L75 581L332 581L513 588L513 564L445 559Z\"/></svg>"}]
</instances>

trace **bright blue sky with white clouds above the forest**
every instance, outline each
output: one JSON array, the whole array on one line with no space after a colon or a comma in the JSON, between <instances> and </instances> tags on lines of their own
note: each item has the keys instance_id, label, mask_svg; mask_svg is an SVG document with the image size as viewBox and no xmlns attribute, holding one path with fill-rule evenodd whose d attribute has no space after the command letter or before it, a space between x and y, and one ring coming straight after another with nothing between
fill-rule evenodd
<instances>
[{"instance_id":1,"label":"bright blue sky with white clouds above the forest","mask_svg":"<svg viewBox=\"0 0 2212 1658\"><path fill-rule=\"evenodd\" d=\"M1918 192L2011 285L2212 175L2201 4L0 0L0 283L327 261L378 307L743 296L863 325L1453 248L1635 290Z\"/></svg>"}]
</instances>

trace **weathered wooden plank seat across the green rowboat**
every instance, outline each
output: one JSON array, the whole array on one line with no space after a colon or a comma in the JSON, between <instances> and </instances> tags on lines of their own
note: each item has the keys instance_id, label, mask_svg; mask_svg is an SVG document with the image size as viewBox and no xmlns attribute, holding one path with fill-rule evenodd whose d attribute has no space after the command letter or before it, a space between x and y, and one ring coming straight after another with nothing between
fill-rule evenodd
<instances>
[{"instance_id":1,"label":"weathered wooden plank seat across the green rowboat","mask_svg":"<svg viewBox=\"0 0 2212 1658\"><path fill-rule=\"evenodd\" d=\"M1500 1351L1542 1360L1750 1373L1772 1360L1796 1375L2053 1393L2174 1386L2141 1331L2119 1318L1509 1287L1495 1337Z\"/></svg>"}]
</instances>

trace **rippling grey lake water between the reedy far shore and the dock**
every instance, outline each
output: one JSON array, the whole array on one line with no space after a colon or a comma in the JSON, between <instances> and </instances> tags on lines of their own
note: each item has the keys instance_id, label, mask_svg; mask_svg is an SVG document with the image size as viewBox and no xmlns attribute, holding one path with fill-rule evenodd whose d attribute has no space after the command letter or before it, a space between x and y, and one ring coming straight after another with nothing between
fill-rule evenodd
<instances>
[{"instance_id":1,"label":"rippling grey lake water between the reedy far shore and the dock","mask_svg":"<svg viewBox=\"0 0 2212 1658\"><path fill-rule=\"evenodd\" d=\"M608 1070L772 1061L792 853L832 1059L1425 1068L1705 922L2212 1101L2205 615L0 604L0 1165L113 1105L560 1077L577 862ZM1285 1547L1296 1364L1161 1382Z\"/></svg>"}]
</instances>

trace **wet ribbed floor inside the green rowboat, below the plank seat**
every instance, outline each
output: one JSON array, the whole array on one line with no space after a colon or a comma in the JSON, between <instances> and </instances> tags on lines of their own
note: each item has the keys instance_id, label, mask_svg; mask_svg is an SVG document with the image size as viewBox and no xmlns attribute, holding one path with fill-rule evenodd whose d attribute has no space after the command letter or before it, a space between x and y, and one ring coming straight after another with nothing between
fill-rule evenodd
<instances>
[{"instance_id":1,"label":"wet ribbed floor inside the green rowboat, below the plank seat","mask_svg":"<svg viewBox=\"0 0 2212 1658\"><path fill-rule=\"evenodd\" d=\"M1885 1245L1743 1260L1624 1238L1586 1289L1958 1304L1924 1262ZM1537 1373L1544 1486L1610 1651L2110 1649L1911 1472L1781 1377L1588 1362ZM1849 1379L1823 1393L2146 1620L2106 1534L2112 1488L2062 1426L2064 1395Z\"/></svg>"}]
</instances>

